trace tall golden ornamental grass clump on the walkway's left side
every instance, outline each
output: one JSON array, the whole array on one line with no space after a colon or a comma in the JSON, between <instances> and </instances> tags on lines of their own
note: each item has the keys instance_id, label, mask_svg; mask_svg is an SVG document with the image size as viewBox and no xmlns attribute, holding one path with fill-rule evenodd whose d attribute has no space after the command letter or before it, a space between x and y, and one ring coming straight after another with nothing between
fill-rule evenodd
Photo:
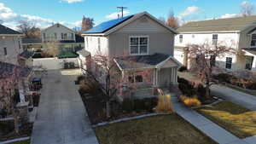
<instances>
[{"instance_id":1,"label":"tall golden ornamental grass clump on the walkway's left side","mask_svg":"<svg viewBox=\"0 0 256 144\"><path fill-rule=\"evenodd\" d=\"M170 113L172 110L171 95L160 95L158 98L157 106L155 107L156 112Z\"/></svg>"}]
</instances>

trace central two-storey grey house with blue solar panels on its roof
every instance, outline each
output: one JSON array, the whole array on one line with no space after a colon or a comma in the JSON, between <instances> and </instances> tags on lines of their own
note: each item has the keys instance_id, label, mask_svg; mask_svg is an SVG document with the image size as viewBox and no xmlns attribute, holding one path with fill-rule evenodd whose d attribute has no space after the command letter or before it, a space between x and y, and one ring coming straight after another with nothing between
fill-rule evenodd
<instances>
[{"instance_id":1,"label":"central two-storey grey house with blue solar panels on its roof","mask_svg":"<svg viewBox=\"0 0 256 144\"><path fill-rule=\"evenodd\" d=\"M108 55L129 83L137 83L140 89L165 88L177 84L177 68L181 66L173 58L175 34L174 29L147 12L133 14L103 22L84 32L84 49L90 55L84 53L83 57L90 61L90 57L98 53ZM132 65L120 58L124 54L132 60ZM96 66L91 69L96 71ZM146 84L147 80L136 73L148 70L152 76Z\"/></svg>"}]
</instances>

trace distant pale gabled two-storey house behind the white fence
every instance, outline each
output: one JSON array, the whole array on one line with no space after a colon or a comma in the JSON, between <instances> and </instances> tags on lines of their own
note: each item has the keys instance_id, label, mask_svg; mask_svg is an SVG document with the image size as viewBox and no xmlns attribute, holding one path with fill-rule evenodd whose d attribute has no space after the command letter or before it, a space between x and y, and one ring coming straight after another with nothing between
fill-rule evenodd
<instances>
[{"instance_id":1,"label":"distant pale gabled two-storey house behind the white fence","mask_svg":"<svg viewBox=\"0 0 256 144\"><path fill-rule=\"evenodd\" d=\"M84 38L59 23L42 30L43 49L48 47L47 43L55 44L61 51L75 52L84 48Z\"/></svg>"}]
</instances>

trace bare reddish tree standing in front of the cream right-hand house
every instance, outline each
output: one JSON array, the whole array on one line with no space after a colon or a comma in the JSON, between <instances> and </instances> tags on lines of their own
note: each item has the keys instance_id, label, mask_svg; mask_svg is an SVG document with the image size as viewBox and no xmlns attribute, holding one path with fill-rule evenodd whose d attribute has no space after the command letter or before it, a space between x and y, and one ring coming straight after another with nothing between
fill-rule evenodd
<instances>
[{"instance_id":1,"label":"bare reddish tree standing in front of the cream right-hand house","mask_svg":"<svg viewBox=\"0 0 256 144\"><path fill-rule=\"evenodd\" d=\"M232 47L224 46L226 44L212 44L205 42L203 44L191 44L186 49L189 55L189 61L193 62L190 67L191 72L195 72L201 78L201 82L206 85L206 100L211 99L210 87L218 83L214 78L214 72L224 71L224 68L218 66L216 59L221 59L225 55L236 54Z\"/></svg>"}]
</instances>

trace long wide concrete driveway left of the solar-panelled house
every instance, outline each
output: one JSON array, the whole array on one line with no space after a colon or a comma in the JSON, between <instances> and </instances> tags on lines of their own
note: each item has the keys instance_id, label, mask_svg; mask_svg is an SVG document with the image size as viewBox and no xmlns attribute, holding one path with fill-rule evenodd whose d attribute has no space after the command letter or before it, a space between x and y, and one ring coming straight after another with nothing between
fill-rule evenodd
<instances>
[{"instance_id":1,"label":"long wide concrete driveway left of the solar-panelled house","mask_svg":"<svg viewBox=\"0 0 256 144\"><path fill-rule=\"evenodd\" d=\"M84 104L74 85L77 71L49 71L43 78L32 144L97 144Z\"/></svg>"}]
</instances>

